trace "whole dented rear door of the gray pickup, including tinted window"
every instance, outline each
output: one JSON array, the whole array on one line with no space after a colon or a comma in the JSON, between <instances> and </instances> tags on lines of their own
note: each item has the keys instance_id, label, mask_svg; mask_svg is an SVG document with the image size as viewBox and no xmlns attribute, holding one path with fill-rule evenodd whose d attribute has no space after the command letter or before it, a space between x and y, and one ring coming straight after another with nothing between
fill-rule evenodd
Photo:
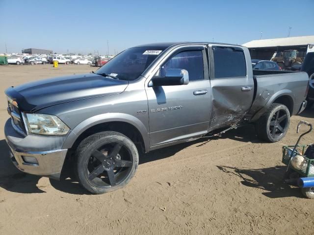
<instances>
[{"instance_id":1,"label":"whole dented rear door of the gray pickup, including tinted window","mask_svg":"<svg viewBox=\"0 0 314 235\"><path fill-rule=\"evenodd\" d=\"M209 45L211 46L211 45ZM230 126L249 111L254 96L254 80L248 50L236 46L211 46L210 85L212 113L209 130Z\"/></svg>"}]
</instances>

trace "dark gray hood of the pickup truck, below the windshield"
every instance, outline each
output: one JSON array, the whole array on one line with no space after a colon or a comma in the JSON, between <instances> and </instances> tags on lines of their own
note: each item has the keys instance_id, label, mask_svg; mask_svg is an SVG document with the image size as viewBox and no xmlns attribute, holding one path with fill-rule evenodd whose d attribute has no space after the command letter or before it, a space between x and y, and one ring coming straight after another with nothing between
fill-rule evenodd
<instances>
[{"instance_id":1,"label":"dark gray hood of the pickup truck, below the windshield","mask_svg":"<svg viewBox=\"0 0 314 235\"><path fill-rule=\"evenodd\" d=\"M86 73L10 87L5 94L18 103L21 111L36 112L48 106L78 99L120 94L128 84L128 81Z\"/></svg>"}]
</instances>

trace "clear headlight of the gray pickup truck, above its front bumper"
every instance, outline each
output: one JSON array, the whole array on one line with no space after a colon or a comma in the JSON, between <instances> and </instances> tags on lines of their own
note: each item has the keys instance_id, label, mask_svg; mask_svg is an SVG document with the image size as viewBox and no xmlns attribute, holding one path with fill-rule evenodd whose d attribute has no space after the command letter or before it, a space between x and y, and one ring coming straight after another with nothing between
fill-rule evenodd
<instances>
[{"instance_id":1,"label":"clear headlight of the gray pickup truck, above its front bumper","mask_svg":"<svg viewBox=\"0 0 314 235\"><path fill-rule=\"evenodd\" d=\"M66 124L53 115L23 113L23 116L28 133L61 136L67 134L70 130Z\"/></svg>"}]
</instances>

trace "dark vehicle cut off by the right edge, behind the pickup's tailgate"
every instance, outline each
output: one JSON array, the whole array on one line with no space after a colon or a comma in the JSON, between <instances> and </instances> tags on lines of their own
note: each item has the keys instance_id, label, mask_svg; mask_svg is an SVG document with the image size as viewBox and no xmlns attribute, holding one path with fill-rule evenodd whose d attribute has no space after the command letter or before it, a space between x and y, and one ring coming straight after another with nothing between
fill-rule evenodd
<instances>
[{"instance_id":1,"label":"dark vehicle cut off by the right edge, behind the pickup's tailgate","mask_svg":"<svg viewBox=\"0 0 314 235\"><path fill-rule=\"evenodd\" d=\"M308 108L314 105L314 52L308 52L301 71L307 72L309 74L309 93L307 96Z\"/></svg>"}]
</instances>

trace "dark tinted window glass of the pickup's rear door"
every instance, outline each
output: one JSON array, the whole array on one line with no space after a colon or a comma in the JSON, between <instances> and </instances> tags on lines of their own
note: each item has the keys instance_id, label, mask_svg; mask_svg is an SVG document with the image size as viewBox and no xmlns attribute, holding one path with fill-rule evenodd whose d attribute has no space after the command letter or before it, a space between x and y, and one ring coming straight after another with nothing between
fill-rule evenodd
<instances>
[{"instance_id":1,"label":"dark tinted window glass of the pickup's rear door","mask_svg":"<svg viewBox=\"0 0 314 235\"><path fill-rule=\"evenodd\" d=\"M244 52L240 47L212 47L215 78L246 76Z\"/></svg>"}]
</instances>

